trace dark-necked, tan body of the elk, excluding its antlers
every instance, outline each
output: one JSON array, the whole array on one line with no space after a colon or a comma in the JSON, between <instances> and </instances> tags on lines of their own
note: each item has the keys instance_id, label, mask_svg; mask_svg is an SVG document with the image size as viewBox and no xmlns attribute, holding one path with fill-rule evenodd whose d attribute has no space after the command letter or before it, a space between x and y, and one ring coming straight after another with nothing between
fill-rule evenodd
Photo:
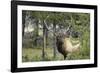
<instances>
[{"instance_id":1,"label":"dark-necked, tan body of the elk, excluding its antlers","mask_svg":"<svg viewBox=\"0 0 100 73\"><path fill-rule=\"evenodd\" d=\"M64 56L64 60L69 53L79 51L80 43L78 42L76 45L72 45L71 39L66 35L60 34L56 37L56 40L58 52Z\"/></svg>"}]
</instances>

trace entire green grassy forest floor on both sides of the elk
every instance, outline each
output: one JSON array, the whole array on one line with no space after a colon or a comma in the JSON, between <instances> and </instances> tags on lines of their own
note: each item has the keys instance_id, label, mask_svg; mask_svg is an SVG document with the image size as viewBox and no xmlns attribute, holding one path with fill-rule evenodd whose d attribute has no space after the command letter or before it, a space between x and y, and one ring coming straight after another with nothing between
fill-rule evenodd
<instances>
[{"instance_id":1,"label":"entire green grassy forest floor on both sides of the elk","mask_svg":"<svg viewBox=\"0 0 100 73\"><path fill-rule=\"evenodd\" d=\"M47 48L45 58L42 58L41 49L23 48L22 49L22 62L38 62L38 61L57 61L63 60L63 55L57 52L56 58L53 55L53 49ZM67 60L76 59L89 59L89 56L78 53L73 53L67 57Z\"/></svg>"}]
</instances>

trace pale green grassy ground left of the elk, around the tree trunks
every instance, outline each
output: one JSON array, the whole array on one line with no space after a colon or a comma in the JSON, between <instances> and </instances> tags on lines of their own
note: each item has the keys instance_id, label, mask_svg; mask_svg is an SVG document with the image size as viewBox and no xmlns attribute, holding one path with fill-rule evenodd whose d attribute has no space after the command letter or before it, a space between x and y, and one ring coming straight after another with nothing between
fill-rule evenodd
<instances>
[{"instance_id":1,"label":"pale green grassy ground left of the elk, around the tree trunks","mask_svg":"<svg viewBox=\"0 0 100 73\"><path fill-rule=\"evenodd\" d=\"M47 48L45 54L44 61L52 61L52 60L63 60L63 56L57 52L57 57L54 59L53 57L53 49ZM42 50L41 49L32 49L32 48L23 48L22 51L22 61L43 61L42 58Z\"/></svg>"}]
</instances>

